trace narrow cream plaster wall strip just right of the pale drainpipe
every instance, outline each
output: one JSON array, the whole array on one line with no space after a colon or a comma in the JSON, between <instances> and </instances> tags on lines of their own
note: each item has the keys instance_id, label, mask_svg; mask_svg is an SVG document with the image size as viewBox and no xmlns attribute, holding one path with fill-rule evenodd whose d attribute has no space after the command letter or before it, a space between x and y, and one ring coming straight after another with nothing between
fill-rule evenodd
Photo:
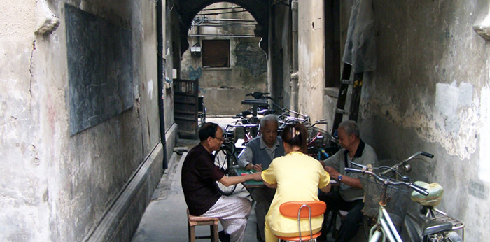
<instances>
[{"instance_id":1,"label":"narrow cream plaster wall strip just right of the pale drainpipe","mask_svg":"<svg viewBox=\"0 0 490 242\"><path fill-rule=\"evenodd\" d=\"M299 1L298 15L298 111L310 115L312 121L321 120L326 118L323 1Z\"/></svg>"}]
</instances>

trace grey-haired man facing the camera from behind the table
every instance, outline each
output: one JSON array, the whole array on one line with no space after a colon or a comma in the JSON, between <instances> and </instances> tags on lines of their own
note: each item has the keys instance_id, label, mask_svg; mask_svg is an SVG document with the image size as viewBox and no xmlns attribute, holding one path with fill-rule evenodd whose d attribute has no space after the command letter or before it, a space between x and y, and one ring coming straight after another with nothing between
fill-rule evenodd
<instances>
[{"instance_id":1,"label":"grey-haired man facing the camera from behind the table","mask_svg":"<svg viewBox=\"0 0 490 242\"><path fill-rule=\"evenodd\" d=\"M262 171L269 167L272 159L284 154L281 137L277 136L279 120L276 115L265 115L260 120L260 133L262 135L253 138L247 143L244 154L238 159L241 168L247 170ZM255 216L257 218L260 241L265 241L264 227L265 215L274 199L275 189L269 187L251 188L249 190L255 204Z\"/></svg>"}]
</instances>

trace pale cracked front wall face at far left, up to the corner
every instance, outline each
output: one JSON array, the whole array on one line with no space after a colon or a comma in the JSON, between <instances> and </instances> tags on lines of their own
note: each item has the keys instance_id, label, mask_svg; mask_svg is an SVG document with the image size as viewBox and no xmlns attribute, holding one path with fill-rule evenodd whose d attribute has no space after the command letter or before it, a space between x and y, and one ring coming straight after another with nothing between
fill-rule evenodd
<instances>
[{"instance_id":1,"label":"pale cracked front wall face at far left, up to the corner","mask_svg":"<svg viewBox=\"0 0 490 242\"><path fill-rule=\"evenodd\" d=\"M38 82L31 78L36 1L0 10L0 226L2 241L47 241L47 160L40 154ZM19 21L19 18L24 21ZM46 100L50 101L50 100ZM52 110L54 112L54 110Z\"/></svg>"}]
</instances>

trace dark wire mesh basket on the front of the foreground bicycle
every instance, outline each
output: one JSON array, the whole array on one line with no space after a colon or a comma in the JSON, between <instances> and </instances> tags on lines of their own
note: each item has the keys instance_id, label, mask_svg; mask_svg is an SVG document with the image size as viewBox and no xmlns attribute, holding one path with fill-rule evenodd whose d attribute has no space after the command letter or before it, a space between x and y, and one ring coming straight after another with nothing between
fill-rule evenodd
<instances>
[{"instance_id":1,"label":"dark wire mesh basket on the front of the foreground bicycle","mask_svg":"<svg viewBox=\"0 0 490 242\"><path fill-rule=\"evenodd\" d=\"M364 208L365 216L377 217L379 211L379 201L384 191L384 184L375 180L371 176L361 178L364 187ZM405 221L407 206L410 202L410 191L406 186L391 186L386 189L386 206L384 207L390 215L393 224L400 226Z\"/></svg>"}]
</instances>

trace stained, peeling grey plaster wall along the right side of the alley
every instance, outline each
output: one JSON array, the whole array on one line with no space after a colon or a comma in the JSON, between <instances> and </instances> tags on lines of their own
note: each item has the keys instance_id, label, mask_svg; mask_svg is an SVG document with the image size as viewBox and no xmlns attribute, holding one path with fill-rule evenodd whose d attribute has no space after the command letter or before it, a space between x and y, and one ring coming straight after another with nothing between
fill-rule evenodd
<instances>
[{"instance_id":1,"label":"stained, peeling grey plaster wall along the right side of the alley","mask_svg":"<svg viewBox=\"0 0 490 242\"><path fill-rule=\"evenodd\" d=\"M445 187L440 208L465 222L465 241L484 241L490 235L490 50L472 24L488 7L483 1L373 2L378 62L364 81L364 136L381 159L434 153L414 163L412 176Z\"/></svg>"}]
</instances>

